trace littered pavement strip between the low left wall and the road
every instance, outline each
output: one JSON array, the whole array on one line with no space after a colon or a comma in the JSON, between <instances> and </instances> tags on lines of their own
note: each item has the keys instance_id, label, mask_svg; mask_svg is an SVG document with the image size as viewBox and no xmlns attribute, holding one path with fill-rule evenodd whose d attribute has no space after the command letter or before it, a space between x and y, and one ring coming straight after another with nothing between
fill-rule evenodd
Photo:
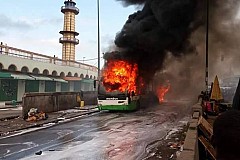
<instances>
[{"instance_id":1,"label":"littered pavement strip between the low left wall and the road","mask_svg":"<svg viewBox=\"0 0 240 160\"><path fill-rule=\"evenodd\" d=\"M27 122L22 118L22 107L0 109L0 137L13 134L17 131L39 127L48 123L58 123L63 120L71 120L81 115L98 112L96 106L84 106L53 113L47 113L48 119Z\"/></svg>"}]
</instances>

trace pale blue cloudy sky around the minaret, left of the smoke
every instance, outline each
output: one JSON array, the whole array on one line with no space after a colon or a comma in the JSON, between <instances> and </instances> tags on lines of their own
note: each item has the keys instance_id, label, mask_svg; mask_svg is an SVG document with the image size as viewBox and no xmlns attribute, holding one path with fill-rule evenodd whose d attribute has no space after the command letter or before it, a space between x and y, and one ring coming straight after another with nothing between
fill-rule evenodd
<instances>
[{"instance_id":1,"label":"pale blue cloudy sky around the minaret, left of the smoke","mask_svg":"<svg viewBox=\"0 0 240 160\"><path fill-rule=\"evenodd\" d=\"M6 0L1 1L0 41L8 46L62 58L59 31L63 30L65 0ZM75 0L80 12L76 16L79 45L76 60L97 66L97 0ZM101 53L113 44L135 6L124 7L116 0L100 0ZM102 55L101 55L102 56ZM83 58L85 57L85 58ZM103 60L101 60L102 66Z\"/></svg>"}]
</instances>

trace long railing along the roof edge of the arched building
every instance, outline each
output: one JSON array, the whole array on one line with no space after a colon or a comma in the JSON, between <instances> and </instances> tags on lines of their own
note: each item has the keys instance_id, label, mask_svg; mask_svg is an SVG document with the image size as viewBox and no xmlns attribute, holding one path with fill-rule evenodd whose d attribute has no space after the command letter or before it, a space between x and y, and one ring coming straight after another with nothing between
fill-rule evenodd
<instances>
[{"instance_id":1,"label":"long railing along the roof edge of the arched building","mask_svg":"<svg viewBox=\"0 0 240 160\"><path fill-rule=\"evenodd\" d=\"M40 61L40 62L44 62L44 63L53 63L56 65L71 66L71 67L76 67L76 68L81 68L81 69L86 69L86 70L91 70L91 71L97 72L97 67L95 67L95 66L91 66L91 65L84 64L84 63L77 62L77 61L62 60L57 57L51 57L51 56L47 56L47 55L43 55L43 54L39 54L39 53L35 53L35 52L30 52L30 51L26 51L26 50L14 48L14 47L2 45L2 44L0 44L0 54L14 56L14 57L18 57L18 58L30 59L33 61Z\"/></svg>"}]
</instances>

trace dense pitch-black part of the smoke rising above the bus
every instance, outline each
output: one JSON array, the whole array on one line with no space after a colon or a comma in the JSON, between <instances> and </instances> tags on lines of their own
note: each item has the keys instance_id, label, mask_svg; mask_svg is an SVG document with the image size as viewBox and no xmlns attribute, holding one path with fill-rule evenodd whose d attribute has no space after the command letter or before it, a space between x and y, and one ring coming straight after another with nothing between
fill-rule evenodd
<instances>
[{"instance_id":1,"label":"dense pitch-black part of the smoke rising above the bus","mask_svg":"<svg viewBox=\"0 0 240 160\"><path fill-rule=\"evenodd\" d=\"M149 82L163 67L168 52L174 56L194 52L189 36L201 23L196 21L197 0L120 0L125 5L143 4L128 17L115 38L120 52L106 53L105 59L125 59L139 66Z\"/></svg>"}]
</instances>

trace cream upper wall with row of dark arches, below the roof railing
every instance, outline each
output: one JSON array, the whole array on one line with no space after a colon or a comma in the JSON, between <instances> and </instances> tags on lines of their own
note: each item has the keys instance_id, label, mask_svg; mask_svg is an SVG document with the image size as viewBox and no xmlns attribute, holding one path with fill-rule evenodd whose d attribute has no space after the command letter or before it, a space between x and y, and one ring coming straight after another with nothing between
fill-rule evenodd
<instances>
[{"instance_id":1,"label":"cream upper wall with row of dark arches, below the roof railing","mask_svg":"<svg viewBox=\"0 0 240 160\"><path fill-rule=\"evenodd\" d=\"M56 63L54 64L51 57L42 55L42 58L44 61L39 61L35 59L31 59L31 56L33 57L41 57L41 55L37 54L35 55L34 52L19 52L19 50L12 49L11 52L19 55L29 55L29 57L21 58L16 56L6 56L4 54L0 54L0 69L3 71L13 71L13 72L27 72L28 74L39 74L39 75L45 75L45 76L52 76L52 72L56 71L58 74L57 76L60 76L61 72L64 72L64 75L68 75L69 72L71 72L71 75L68 76L76 76L80 77L81 74L82 78L86 77L86 74L89 75L89 77L97 76L97 69L94 67L90 67L88 65L85 66L85 64L82 64L81 66L76 66L78 64L70 64L70 65L64 65ZM30 54L31 53L31 54ZM48 61L47 59L50 58ZM46 60L46 61L45 61ZM49 63L47 63L49 62ZM74 62L73 62L74 63ZM28 69L27 69L27 68ZM37 68L37 69L36 69Z\"/></svg>"}]
</instances>

